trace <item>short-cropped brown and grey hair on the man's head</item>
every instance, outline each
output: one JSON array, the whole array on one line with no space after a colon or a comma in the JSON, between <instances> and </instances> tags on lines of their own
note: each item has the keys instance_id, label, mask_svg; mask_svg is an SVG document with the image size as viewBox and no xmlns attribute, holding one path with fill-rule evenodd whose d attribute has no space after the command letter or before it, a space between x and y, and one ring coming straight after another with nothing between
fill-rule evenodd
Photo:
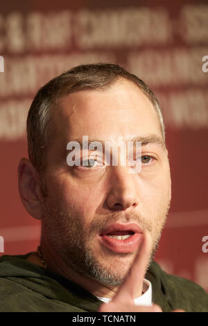
<instances>
[{"instance_id":1,"label":"short-cropped brown and grey hair on the man's head","mask_svg":"<svg viewBox=\"0 0 208 326\"><path fill-rule=\"evenodd\" d=\"M46 168L46 148L49 144L49 126L51 124L50 112L52 107L57 107L62 96L66 96L80 89L106 89L119 78L129 80L146 94L153 104L159 117L162 137L165 142L165 128L159 102L143 80L130 74L123 67L110 63L96 63L80 65L65 71L46 83L39 89L27 118L28 156L33 166L40 173ZM50 128L51 129L51 128Z\"/></svg>"}]
</instances>

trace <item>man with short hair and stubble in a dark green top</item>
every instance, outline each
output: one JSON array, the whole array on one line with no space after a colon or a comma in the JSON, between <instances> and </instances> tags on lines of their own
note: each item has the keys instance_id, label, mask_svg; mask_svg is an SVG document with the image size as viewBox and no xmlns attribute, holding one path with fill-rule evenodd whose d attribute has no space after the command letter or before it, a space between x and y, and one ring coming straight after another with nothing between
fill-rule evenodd
<instances>
[{"instance_id":1,"label":"man with short hair and stubble in a dark green top","mask_svg":"<svg viewBox=\"0 0 208 326\"><path fill-rule=\"evenodd\" d=\"M19 194L41 219L40 248L1 257L0 311L208 311L200 286L153 261L171 177L162 114L142 80L117 65L75 67L37 92L27 135ZM83 137L103 147L86 151ZM128 141L134 160L118 147L112 164Z\"/></svg>"}]
</instances>

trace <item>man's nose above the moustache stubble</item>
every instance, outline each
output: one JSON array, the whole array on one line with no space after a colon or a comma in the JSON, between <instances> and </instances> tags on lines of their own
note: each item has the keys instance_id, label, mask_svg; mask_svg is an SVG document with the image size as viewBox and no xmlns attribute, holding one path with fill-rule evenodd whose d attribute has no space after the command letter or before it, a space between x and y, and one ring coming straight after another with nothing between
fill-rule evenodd
<instances>
[{"instance_id":1,"label":"man's nose above the moustache stubble","mask_svg":"<svg viewBox=\"0 0 208 326\"><path fill-rule=\"evenodd\" d=\"M110 192L107 207L111 210L125 210L137 207L137 174L128 173L123 166L114 166L110 175Z\"/></svg>"}]
</instances>

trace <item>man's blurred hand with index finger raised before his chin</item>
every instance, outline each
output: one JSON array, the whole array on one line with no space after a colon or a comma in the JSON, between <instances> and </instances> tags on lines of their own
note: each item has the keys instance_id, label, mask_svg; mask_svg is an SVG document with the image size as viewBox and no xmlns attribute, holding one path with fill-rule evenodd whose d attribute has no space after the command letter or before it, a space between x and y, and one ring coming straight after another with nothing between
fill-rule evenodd
<instances>
[{"instance_id":1,"label":"man's blurred hand with index finger raised before his chin","mask_svg":"<svg viewBox=\"0 0 208 326\"><path fill-rule=\"evenodd\" d=\"M101 307L98 309L99 312L162 312L162 309L157 304L146 307L136 306L134 302L135 295L141 293L143 288L143 280L151 250L151 237L149 232L145 231L141 249L137 252L127 277L114 295L114 298L109 303L101 304ZM184 311L176 309L173 312Z\"/></svg>"}]
</instances>

